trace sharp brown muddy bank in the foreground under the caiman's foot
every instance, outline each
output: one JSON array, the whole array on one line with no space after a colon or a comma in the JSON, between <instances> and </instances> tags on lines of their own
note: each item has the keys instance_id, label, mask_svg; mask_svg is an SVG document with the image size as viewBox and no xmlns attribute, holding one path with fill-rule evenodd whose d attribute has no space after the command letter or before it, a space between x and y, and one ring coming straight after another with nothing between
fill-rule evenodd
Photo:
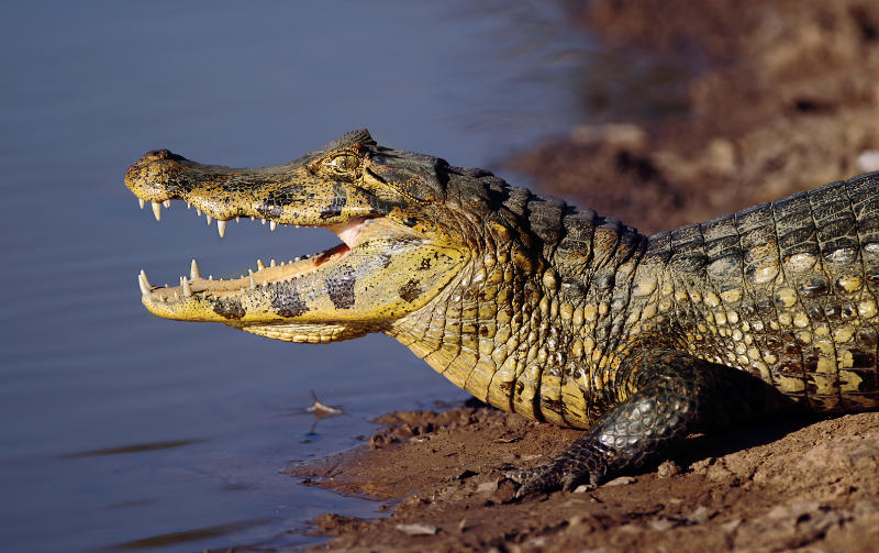
<instances>
[{"instance_id":1,"label":"sharp brown muddy bank in the foreground under the caiman's foot","mask_svg":"<svg viewBox=\"0 0 879 553\"><path fill-rule=\"evenodd\" d=\"M387 519L318 517L314 532L334 539L315 550L875 551L879 539L879 413L691 438L646 473L522 502L509 502L504 467L546 461L577 432L489 408L385 421L378 442L411 441L293 471L402 500Z\"/></svg>"}]
</instances>

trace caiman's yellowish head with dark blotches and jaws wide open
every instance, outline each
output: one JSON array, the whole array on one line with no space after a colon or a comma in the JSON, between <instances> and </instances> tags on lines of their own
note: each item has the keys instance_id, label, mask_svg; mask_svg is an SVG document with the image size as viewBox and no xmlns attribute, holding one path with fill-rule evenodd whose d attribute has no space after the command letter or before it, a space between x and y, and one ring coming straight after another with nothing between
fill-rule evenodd
<instances>
[{"instance_id":1,"label":"caiman's yellowish head with dark blotches and jaws wide open","mask_svg":"<svg viewBox=\"0 0 879 553\"><path fill-rule=\"evenodd\" d=\"M458 183L454 193L450 174ZM142 208L152 203L156 219L163 204L185 201L209 223L215 220L221 236L236 218L268 221L271 230L321 226L338 235L335 247L268 266L259 262L242 278L204 278L194 261L179 286L153 286L145 273L138 276L144 306L159 317L221 322L292 342L388 331L425 309L461 278L490 225L490 191L477 178L436 157L378 146L365 130L258 169L153 151L132 165L125 184ZM472 190L465 195L461 187ZM461 196L468 197L466 210Z\"/></svg>"}]
</instances>

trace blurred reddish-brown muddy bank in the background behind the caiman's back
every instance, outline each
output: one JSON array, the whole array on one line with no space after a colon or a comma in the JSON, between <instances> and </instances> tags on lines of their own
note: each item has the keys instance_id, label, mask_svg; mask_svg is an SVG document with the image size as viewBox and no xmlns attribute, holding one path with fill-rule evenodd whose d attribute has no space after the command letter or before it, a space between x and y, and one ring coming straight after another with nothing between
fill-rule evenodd
<instances>
[{"instance_id":1,"label":"blurred reddish-brown muddy bank in the background behind the caiman's back","mask_svg":"<svg viewBox=\"0 0 879 553\"><path fill-rule=\"evenodd\" d=\"M877 168L879 4L590 7L580 20L623 84L587 79L607 123L511 162L542 190L649 233Z\"/></svg>"}]
</instances>

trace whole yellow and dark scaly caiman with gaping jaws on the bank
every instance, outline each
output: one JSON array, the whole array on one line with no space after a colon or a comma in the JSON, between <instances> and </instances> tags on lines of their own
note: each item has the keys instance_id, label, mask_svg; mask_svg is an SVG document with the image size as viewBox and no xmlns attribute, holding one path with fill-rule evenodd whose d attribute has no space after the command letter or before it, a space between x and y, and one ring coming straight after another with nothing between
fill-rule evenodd
<instances>
[{"instance_id":1,"label":"whole yellow and dark scaly caiman with gaping jaws on the bank","mask_svg":"<svg viewBox=\"0 0 879 553\"><path fill-rule=\"evenodd\" d=\"M342 243L242 278L138 276L168 319L290 342L383 332L482 401L587 430L513 473L520 495L597 484L696 432L789 403L879 408L879 174L650 236L365 130L285 165L153 151L125 184L156 219L321 226Z\"/></svg>"}]
</instances>

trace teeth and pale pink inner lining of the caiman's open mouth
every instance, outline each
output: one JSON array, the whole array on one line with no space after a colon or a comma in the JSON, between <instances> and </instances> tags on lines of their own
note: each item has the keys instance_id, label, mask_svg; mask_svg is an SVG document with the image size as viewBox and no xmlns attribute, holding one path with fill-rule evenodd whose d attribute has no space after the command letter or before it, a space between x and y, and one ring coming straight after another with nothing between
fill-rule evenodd
<instances>
[{"instance_id":1,"label":"teeth and pale pink inner lining of the caiman's open mouth","mask_svg":"<svg viewBox=\"0 0 879 553\"><path fill-rule=\"evenodd\" d=\"M141 209L145 208L146 202L143 199L138 198L138 203ZM165 200L163 202L154 201L151 203L156 221L160 221L163 207L169 208L171 200ZM192 204L187 202L187 209L191 209L191 207ZM196 208L196 212L199 217L202 215L201 209ZM213 219L207 213L204 215L207 217L208 224L210 225ZM230 221L234 220L235 222L240 222L243 218L251 219L253 221L262 221L264 225L268 222L271 231L275 231L279 225L300 228L299 224L288 225L285 223L278 223L276 221L269 221L267 219L256 219L244 215L227 220L215 220L216 230L220 236L223 237L225 235L226 225ZM143 296L148 297L152 301L160 302L175 301L196 295L223 298L229 296L237 296L248 290L255 290L259 287L269 287L280 283L290 283L298 278L302 278L303 276L310 275L321 267L325 268L327 264L334 264L345 257L352 248L357 246L364 224L368 220L368 218L358 217L342 223L335 223L325 226L313 225L334 232L342 243L329 250L324 250L323 252L294 257L289 261L278 262L272 258L266 264L262 259L257 259L256 266L248 269L248 274L242 275L240 278L223 279L214 278L213 275L208 275L205 278L201 275L198 262L193 258L192 263L190 264L189 275L180 276L178 286L154 286L149 283L146 272L144 270L141 270L140 275L137 275L137 283L141 287L141 292Z\"/></svg>"}]
</instances>

